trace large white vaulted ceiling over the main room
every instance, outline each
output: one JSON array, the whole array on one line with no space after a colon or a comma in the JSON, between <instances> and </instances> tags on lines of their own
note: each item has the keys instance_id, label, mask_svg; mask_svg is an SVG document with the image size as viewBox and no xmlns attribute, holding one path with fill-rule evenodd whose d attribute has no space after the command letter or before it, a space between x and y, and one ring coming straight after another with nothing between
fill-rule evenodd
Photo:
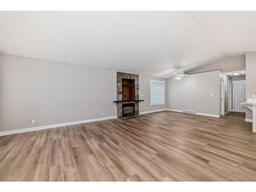
<instances>
[{"instance_id":1,"label":"large white vaulted ceiling over the main room","mask_svg":"<svg viewBox=\"0 0 256 192\"><path fill-rule=\"evenodd\" d=\"M256 51L256 11L0 11L0 53L170 77Z\"/></svg>"}]
</instances>

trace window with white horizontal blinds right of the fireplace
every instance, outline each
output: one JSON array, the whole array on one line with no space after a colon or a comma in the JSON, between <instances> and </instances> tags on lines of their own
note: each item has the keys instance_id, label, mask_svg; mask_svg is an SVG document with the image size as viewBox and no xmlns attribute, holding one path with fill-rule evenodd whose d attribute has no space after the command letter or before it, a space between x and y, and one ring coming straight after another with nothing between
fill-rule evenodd
<instances>
[{"instance_id":1,"label":"window with white horizontal blinds right of the fireplace","mask_svg":"<svg viewBox=\"0 0 256 192\"><path fill-rule=\"evenodd\" d=\"M164 104L164 81L150 80L150 105Z\"/></svg>"}]
</instances>

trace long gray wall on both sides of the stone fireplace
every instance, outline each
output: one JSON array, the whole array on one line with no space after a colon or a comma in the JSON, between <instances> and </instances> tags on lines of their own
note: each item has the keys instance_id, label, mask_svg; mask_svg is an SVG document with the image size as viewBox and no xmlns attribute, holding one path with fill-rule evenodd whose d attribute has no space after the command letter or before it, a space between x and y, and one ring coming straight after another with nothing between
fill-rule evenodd
<instances>
[{"instance_id":1,"label":"long gray wall on both sides of the stone fireplace","mask_svg":"<svg viewBox=\"0 0 256 192\"><path fill-rule=\"evenodd\" d=\"M150 79L164 79L139 77L140 110L165 109L149 99ZM116 71L0 54L0 132L116 116L113 100Z\"/></svg>"}]
</instances>

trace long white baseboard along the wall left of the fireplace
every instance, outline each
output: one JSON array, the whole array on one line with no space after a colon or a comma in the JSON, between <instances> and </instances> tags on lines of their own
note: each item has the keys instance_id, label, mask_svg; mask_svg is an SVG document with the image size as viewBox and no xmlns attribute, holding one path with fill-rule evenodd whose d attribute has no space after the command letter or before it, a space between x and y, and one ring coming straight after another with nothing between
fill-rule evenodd
<instances>
[{"instance_id":1,"label":"long white baseboard along the wall left of the fireplace","mask_svg":"<svg viewBox=\"0 0 256 192\"><path fill-rule=\"evenodd\" d=\"M25 132L31 132L31 131L38 131L38 130L46 130L46 129L52 129L52 128L56 128L56 127L60 127L60 126L68 126L68 125L81 124L81 123L89 123L89 122L94 122L94 121L102 121L102 120L115 119L115 118L117 118L117 116L101 117L101 118L96 118L96 119L87 119L87 120L81 120L81 121L58 123L58 124L51 124L51 125L44 125L44 126L36 126L36 127L26 128L26 129L0 132L0 136L12 135L12 134L17 134L17 133L25 133Z\"/></svg>"}]
</instances>

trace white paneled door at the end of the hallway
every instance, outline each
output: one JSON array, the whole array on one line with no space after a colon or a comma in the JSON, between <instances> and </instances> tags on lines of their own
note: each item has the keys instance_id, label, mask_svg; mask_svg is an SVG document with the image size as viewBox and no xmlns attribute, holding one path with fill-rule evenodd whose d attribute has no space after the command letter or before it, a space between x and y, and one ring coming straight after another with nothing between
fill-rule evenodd
<instances>
[{"instance_id":1,"label":"white paneled door at the end of the hallway","mask_svg":"<svg viewBox=\"0 0 256 192\"><path fill-rule=\"evenodd\" d=\"M245 113L245 80L233 81L233 111Z\"/></svg>"}]
</instances>

